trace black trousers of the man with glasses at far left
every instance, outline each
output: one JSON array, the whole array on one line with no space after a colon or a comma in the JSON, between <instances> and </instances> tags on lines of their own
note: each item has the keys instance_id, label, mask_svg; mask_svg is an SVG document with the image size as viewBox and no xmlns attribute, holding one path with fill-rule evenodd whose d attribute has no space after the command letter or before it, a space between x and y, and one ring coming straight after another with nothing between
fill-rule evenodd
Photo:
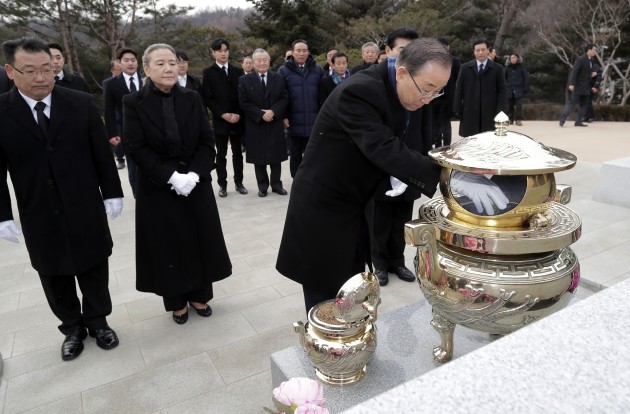
<instances>
[{"instance_id":1,"label":"black trousers of the man with glasses at far left","mask_svg":"<svg viewBox=\"0 0 630 414\"><path fill-rule=\"evenodd\" d=\"M75 278L81 289L83 304L77 296ZM76 276L40 273L39 279L50 309L61 320L61 333L67 335L76 326L86 326L91 330L107 326L106 317L112 313L107 259Z\"/></svg>"}]
</instances>

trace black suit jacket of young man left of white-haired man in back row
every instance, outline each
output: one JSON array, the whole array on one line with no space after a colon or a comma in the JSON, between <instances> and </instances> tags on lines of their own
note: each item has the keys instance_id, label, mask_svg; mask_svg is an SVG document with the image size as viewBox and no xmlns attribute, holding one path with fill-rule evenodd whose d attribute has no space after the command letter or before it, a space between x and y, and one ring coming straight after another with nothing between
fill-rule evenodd
<instances>
[{"instance_id":1,"label":"black suit jacket of young man left of white-haired man in back row","mask_svg":"<svg viewBox=\"0 0 630 414\"><path fill-rule=\"evenodd\" d=\"M236 124L221 118L225 113L242 115L238 104L238 79L243 76L242 68L228 65L228 74L216 63L203 71L203 99L212 112L215 135L240 134L243 132L243 117Z\"/></svg>"}]
</instances>

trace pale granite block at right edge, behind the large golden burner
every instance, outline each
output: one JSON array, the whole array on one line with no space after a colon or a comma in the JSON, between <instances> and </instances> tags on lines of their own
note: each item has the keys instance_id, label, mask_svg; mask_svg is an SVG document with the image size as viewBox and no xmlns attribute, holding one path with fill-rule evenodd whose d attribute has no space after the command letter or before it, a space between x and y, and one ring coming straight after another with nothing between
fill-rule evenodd
<instances>
[{"instance_id":1,"label":"pale granite block at right edge, behind the large golden burner","mask_svg":"<svg viewBox=\"0 0 630 414\"><path fill-rule=\"evenodd\" d=\"M599 181L593 190L593 200L600 203L630 207L630 191L624 186L630 182L630 157L602 164Z\"/></svg>"}]
</instances>

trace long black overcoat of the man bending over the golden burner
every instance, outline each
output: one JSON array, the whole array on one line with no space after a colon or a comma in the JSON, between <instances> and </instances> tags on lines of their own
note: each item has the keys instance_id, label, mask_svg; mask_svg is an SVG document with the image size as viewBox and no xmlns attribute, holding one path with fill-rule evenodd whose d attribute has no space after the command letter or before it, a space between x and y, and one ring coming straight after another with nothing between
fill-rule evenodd
<instances>
[{"instance_id":1,"label":"long black overcoat of the man bending over the golden burner","mask_svg":"<svg viewBox=\"0 0 630 414\"><path fill-rule=\"evenodd\" d=\"M280 273L310 289L340 288L353 276L365 206L379 181L393 175L433 195L440 168L395 135L404 113L387 72L376 68L333 90L291 186Z\"/></svg>"}]
</instances>

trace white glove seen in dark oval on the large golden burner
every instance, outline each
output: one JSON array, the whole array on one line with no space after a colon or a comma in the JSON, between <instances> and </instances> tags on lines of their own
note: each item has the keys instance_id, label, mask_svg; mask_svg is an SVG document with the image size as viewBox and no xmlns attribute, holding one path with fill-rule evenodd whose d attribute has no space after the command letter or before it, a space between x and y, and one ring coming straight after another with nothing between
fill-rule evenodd
<instances>
[{"instance_id":1,"label":"white glove seen in dark oval on the large golden burner","mask_svg":"<svg viewBox=\"0 0 630 414\"><path fill-rule=\"evenodd\" d=\"M510 200L492 180L485 175L454 171L451 174L451 189L465 195L475 204L477 213L494 215L494 205L503 210Z\"/></svg>"}]
</instances>

